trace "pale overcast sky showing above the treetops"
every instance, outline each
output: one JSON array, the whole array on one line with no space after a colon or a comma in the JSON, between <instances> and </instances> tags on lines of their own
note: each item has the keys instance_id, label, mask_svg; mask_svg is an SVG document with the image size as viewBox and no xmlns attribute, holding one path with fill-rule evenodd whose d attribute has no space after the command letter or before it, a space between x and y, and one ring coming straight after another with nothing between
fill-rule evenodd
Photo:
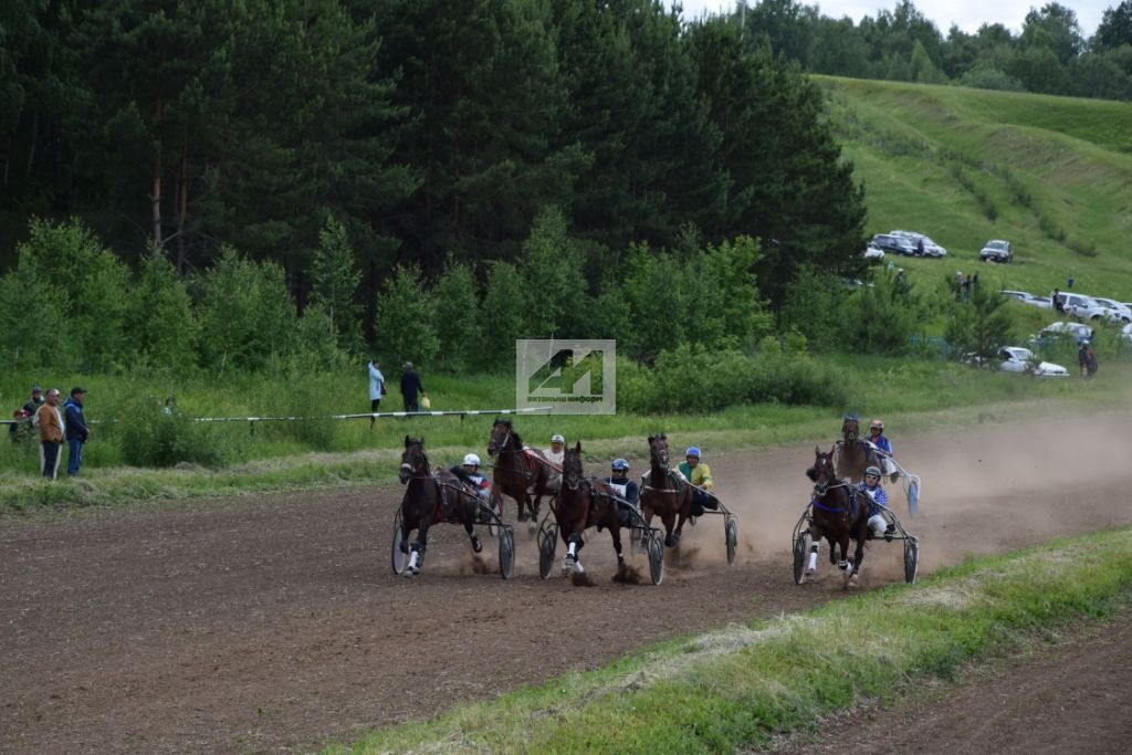
<instances>
[{"instance_id":1,"label":"pale overcast sky showing above the treetops","mask_svg":"<svg viewBox=\"0 0 1132 755\"><path fill-rule=\"evenodd\" d=\"M735 8L734 0L680 0L685 18L696 18L705 10L718 14L721 10ZM1061 0L1061 5L1077 12L1081 32L1088 38L1100 25L1100 17L1108 8L1115 8L1121 0ZM674 0L668 0L674 5ZM914 0L916 9L929 20L935 22L940 32L946 36L947 29L954 24L964 32L975 32L983 24L1002 24L1014 32L1020 32L1026 14L1030 8L1040 8L1048 0ZM747 0L747 6L757 5L757 0ZM843 18L849 16L860 23L864 16L876 17L877 10L892 10L895 0L824 0L811 2L801 0L804 6L817 5L822 16Z\"/></svg>"}]
</instances>

